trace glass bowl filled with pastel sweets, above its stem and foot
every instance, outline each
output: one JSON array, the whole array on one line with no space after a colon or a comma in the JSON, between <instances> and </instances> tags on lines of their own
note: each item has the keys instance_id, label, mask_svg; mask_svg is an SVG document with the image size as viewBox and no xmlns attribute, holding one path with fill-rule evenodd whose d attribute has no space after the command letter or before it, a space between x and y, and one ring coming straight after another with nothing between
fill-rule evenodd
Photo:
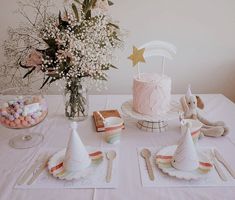
<instances>
[{"instance_id":1,"label":"glass bowl filled with pastel sweets, above its stem and foot","mask_svg":"<svg viewBox=\"0 0 235 200\"><path fill-rule=\"evenodd\" d=\"M43 95L28 88L10 88L1 91L0 106L1 124L13 129L35 126L45 119L48 112Z\"/></svg>"}]
</instances>

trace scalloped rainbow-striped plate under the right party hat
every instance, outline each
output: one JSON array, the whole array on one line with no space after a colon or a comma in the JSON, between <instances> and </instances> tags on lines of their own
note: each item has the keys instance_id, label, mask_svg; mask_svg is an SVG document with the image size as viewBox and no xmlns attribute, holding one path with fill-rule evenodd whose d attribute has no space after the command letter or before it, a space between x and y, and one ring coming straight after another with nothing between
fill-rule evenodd
<instances>
[{"instance_id":1,"label":"scalloped rainbow-striped plate under the right party hat","mask_svg":"<svg viewBox=\"0 0 235 200\"><path fill-rule=\"evenodd\" d=\"M167 146L161 149L156 155L156 164L159 169L169 176L185 180L197 180L205 177L213 168L209 159L202 153L198 152L199 167L193 171L182 171L174 168L171 161L177 145Z\"/></svg>"}]
</instances>

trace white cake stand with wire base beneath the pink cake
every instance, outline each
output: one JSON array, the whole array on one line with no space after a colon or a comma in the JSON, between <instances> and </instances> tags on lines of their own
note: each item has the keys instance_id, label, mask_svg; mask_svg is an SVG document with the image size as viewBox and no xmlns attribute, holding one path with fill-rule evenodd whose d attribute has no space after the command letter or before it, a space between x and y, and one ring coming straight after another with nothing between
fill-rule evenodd
<instances>
[{"instance_id":1,"label":"white cake stand with wire base beneath the pink cake","mask_svg":"<svg viewBox=\"0 0 235 200\"><path fill-rule=\"evenodd\" d=\"M126 101L122 104L122 112L137 121L137 127L148 132L165 132L168 126L168 121L177 119L182 108L178 101L172 100L170 102L169 111L166 113L150 116L144 115L134 111L132 100Z\"/></svg>"}]
</instances>

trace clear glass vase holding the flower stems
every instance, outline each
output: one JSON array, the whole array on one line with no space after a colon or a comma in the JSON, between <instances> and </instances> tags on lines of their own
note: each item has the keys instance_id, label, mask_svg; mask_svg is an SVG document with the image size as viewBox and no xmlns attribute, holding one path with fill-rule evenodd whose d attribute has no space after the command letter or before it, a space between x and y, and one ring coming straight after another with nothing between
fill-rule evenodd
<instances>
[{"instance_id":1,"label":"clear glass vase holding the flower stems","mask_svg":"<svg viewBox=\"0 0 235 200\"><path fill-rule=\"evenodd\" d=\"M65 116L72 121L83 121L88 117L89 101L87 88L80 80L66 83L64 91Z\"/></svg>"}]
</instances>

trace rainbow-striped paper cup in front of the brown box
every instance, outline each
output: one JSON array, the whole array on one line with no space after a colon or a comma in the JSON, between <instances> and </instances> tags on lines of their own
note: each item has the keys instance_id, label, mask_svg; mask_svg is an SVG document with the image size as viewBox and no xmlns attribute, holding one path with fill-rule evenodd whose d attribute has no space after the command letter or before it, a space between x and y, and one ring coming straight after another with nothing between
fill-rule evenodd
<instances>
[{"instance_id":1,"label":"rainbow-striped paper cup in front of the brown box","mask_svg":"<svg viewBox=\"0 0 235 200\"><path fill-rule=\"evenodd\" d=\"M120 117L107 117L104 122L104 140L110 144L120 142L123 119Z\"/></svg>"}]
</instances>

